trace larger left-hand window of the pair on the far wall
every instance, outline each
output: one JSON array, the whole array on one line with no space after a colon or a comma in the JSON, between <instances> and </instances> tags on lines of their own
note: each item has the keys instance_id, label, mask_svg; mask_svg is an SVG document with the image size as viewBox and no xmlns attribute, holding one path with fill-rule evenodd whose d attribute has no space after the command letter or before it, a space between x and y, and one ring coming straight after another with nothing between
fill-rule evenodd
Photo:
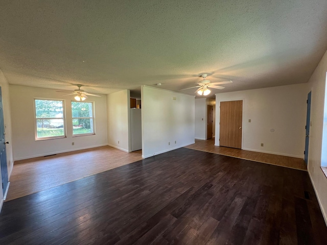
<instances>
[{"instance_id":1,"label":"larger left-hand window of the pair on the far wall","mask_svg":"<svg viewBox=\"0 0 327 245\"><path fill-rule=\"evenodd\" d=\"M63 100L34 99L35 139L66 137Z\"/></svg>"}]
</instances>

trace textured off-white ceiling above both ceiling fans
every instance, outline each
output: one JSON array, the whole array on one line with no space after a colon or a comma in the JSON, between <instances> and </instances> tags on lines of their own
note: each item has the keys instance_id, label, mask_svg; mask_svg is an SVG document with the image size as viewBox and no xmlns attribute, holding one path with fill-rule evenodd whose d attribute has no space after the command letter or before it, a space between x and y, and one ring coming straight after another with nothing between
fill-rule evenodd
<instances>
[{"instance_id":1,"label":"textured off-white ceiling above both ceiling fans","mask_svg":"<svg viewBox=\"0 0 327 245\"><path fill-rule=\"evenodd\" d=\"M305 83L327 49L327 1L0 1L0 69L10 84L107 94L212 94ZM196 89L183 90L194 94Z\"/></svg>"}]
</instances>

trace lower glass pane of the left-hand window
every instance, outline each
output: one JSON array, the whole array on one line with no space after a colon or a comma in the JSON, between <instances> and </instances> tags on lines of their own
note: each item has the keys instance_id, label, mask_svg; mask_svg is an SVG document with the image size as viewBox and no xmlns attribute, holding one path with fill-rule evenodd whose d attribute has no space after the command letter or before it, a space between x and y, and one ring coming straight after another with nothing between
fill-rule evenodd
<instances>
[{"instance_id":1,"label":"lower glass pane of the left-hand window","mask_svg":"<svg viewBox=\"0 0 327 245\"><path fill-rule=\"evenodd\" d=\"M37 138L64 136L63 119L36 119Z\"/></svg>"}]
</instances>

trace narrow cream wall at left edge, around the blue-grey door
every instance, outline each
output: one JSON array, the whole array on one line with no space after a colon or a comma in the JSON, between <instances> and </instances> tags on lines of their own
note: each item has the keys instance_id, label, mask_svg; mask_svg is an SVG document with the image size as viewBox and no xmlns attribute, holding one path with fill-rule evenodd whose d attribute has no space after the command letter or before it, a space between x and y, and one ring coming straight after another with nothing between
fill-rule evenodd
<instances>
[{"instance_id":1,"label":"narrow cream wall at left edge, around the blue-grey door","mask_svg":"<svg viewBox=\"0 0 327 245\"><path fill-rule=\"evenodd\" d=\"M12 147L10 96L9 96L9 84L8 84L2 70L0 70L0 86L1 86L1 90L2 90L6 141L9 141L9 144L6 144L6 154L7 154L8 179L10 180L10 175L11 175L13 164L14 164L13 147ZM1 175L0 175L0 183L2 183ZM0 200L1 200L0 201L0 210L1 210L3 202L4 202L4 197L3 197L2 190L0 192L1 192L0 193Z\"/></svg>"}]
</instances>

